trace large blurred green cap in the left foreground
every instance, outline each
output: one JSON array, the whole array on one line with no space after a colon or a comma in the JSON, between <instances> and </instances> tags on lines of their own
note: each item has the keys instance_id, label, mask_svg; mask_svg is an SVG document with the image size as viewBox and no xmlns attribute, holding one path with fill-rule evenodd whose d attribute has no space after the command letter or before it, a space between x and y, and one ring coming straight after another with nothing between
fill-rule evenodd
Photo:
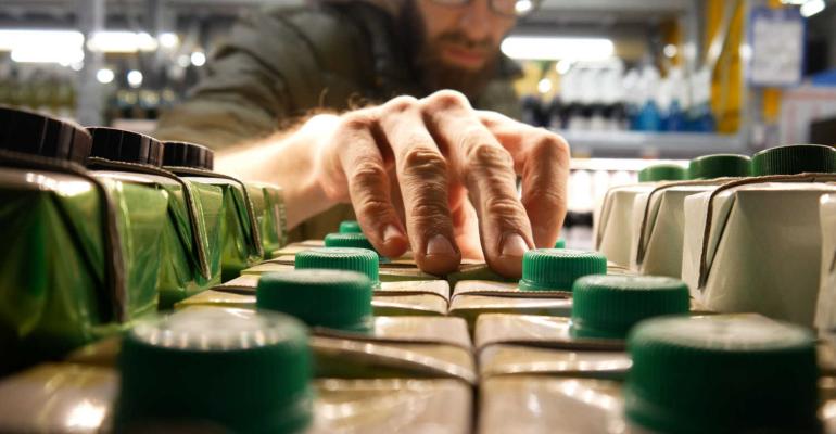
<instances>
[{"instance_id":1,"label":"large blurred green cap in the left foreground","mask_svg":"<svg viewBox=\"0 0 836 434\"><path fill-rule=\"evenodd\" d=\"M284 315L204 308L139 323L118 365L116 432L194 422L291 433L312 420L307 332Z\"/></svg>"}]
</instances>

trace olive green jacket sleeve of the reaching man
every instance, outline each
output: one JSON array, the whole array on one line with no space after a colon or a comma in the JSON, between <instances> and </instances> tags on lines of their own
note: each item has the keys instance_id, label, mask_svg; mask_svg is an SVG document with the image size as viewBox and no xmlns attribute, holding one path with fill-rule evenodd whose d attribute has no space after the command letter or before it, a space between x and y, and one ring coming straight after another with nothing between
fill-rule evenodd
<instances>
[{"instance_id":1,"label":"olive green jacket sleeve of the reaching man","mask_svg":"<svg viewBox=\"0 0 836 434\"><path fill-rule=\"evenodd\" d=\"M313 108L343 110L362 86L365 51L356 26L333 11L252 14L235 26L187 100L161 117L155 135L219 149L270 135Z\"/></svg>"}]
</instances>

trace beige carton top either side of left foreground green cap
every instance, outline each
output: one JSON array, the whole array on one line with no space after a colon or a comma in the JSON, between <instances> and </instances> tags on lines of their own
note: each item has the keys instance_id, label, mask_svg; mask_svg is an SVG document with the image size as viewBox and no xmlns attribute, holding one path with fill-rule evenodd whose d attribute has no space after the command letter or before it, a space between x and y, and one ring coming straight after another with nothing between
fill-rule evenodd
<instances>
[{"instance_id":1,"label":"beige carton top either side of left foreground green cap","mask_svg":"<svg viewBox=\"0 0 836 434\"><path fill-rule=\"evenodd\" d=\"M308 434L471 431L472 390L460 381L317 379L312 385L313 422L304 431ZM39 365L0 380L0 400L7 403L0 407L0 431L112 432L117 388L113 368Z\"/></svg>"}]
</instances>

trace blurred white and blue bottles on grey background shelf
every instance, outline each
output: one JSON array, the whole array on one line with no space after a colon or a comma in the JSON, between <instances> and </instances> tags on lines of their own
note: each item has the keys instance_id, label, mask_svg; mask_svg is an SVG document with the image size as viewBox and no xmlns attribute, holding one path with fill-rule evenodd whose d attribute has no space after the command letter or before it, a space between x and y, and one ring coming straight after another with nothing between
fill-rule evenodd
<instances>
[{"instance_id":1,"label":"blurred white and blue bottles on grey background shelf","mask_svg":"<svg viewBox=\"0 0 836 434\"><path fill-rule=\"evenodd\" d=\"M617 60L560 74L554 98L523 99L523 120L563 136L573 154L691 158L747 152L743 133L717 132L705 69L685 76L671 67L660 77L653 65L624 72Z\"/></svg>"}]
</instances>

